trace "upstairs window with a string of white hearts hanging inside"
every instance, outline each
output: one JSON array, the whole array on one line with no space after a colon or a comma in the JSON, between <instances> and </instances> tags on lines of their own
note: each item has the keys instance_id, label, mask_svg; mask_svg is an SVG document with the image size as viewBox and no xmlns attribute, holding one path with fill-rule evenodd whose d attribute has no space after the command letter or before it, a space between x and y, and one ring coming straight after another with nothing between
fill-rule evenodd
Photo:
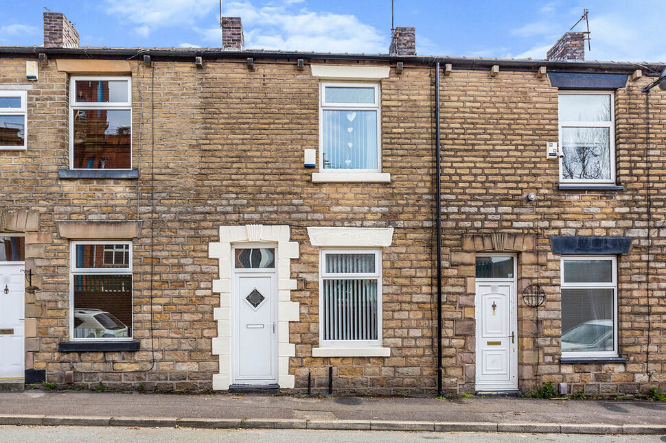
<instances>
[{"instance_id":1,"label":"upstairs window with a string of white hearts hanging inside","mask_svg":"<svg viewBox=\"0 0 666 443\"><path fill-rule=\"evenodd\" d=\"M320 88L321 171L379 171L379 84L324 82Z\"/></svg>"}]
</instances>

